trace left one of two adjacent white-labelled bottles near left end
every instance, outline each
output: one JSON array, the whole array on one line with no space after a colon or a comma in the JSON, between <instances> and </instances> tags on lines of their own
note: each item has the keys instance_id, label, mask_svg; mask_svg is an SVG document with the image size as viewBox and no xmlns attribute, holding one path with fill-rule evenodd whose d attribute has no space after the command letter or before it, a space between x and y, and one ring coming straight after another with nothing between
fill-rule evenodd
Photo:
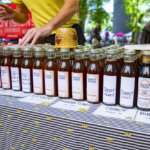
<instances>
[{"instance_id":1,"label":"left one of two adjacent white-labelled bottles near left end","mask_svg":"<svg viewBox=\"0 0 150 150\"><path fill-rule=\"evenodd\" d=\"M13 59L11 62L11 82L12 89L15 91L22 90L21 84L21 65L22 65L22 53L20 47L16 46L12 49Z\"/></svg>"}]
</instances>

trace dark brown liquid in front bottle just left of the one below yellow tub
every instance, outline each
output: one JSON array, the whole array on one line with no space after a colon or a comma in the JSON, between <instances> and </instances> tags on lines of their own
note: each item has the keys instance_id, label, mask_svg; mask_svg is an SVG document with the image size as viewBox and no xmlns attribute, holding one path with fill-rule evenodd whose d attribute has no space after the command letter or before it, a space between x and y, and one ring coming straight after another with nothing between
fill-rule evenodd
<instances>
[{"instance_id":1,"label":"dark brown liquid in front bottle just left of the one below yellow tub","mask_svg":"<svg viewBox=\"0 0 150 150\"><path fill-rule=\"evenodd\" d=\"M55 58L48 59L45 70L54 71L54 95L48 95L48 96L58 96L58 82L57 82L58 64L57 64L57 60ZM51 83L49 83L49 84L51 84Z\"/></svg>"}]
</instances>

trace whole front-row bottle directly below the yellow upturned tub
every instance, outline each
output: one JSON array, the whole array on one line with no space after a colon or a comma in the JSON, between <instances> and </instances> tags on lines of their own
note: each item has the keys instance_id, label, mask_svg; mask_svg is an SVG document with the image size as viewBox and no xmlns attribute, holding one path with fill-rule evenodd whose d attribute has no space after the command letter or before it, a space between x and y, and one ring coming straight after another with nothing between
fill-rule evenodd
<instances>
[{"instance_id":1,"label":"whole front-row bottle directly below the yellow upturned tub","mask_svg":"<svg viewBox=\"0 0 150 150\"><path fill-rule=\"evenodd\" d=\"M61 60L58 65L58 96L71 98L70 50L60 49Z\"/></svg>"}]
</instances>

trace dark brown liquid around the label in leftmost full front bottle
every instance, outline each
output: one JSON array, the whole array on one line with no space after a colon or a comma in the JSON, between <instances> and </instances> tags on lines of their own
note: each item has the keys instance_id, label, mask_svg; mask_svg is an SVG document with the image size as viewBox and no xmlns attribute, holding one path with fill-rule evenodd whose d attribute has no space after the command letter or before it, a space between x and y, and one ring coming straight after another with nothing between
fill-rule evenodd
<instances>
[{"instance_id":1,"label":"dark brown liquid around the label in leftmost full front bottle","mask_svg":"<svg viewBox=\"0 0 150 150\"><path fill-rule=\"evenodd\" d=\"M11 66L11 59L10 59L10 56L3 56L3 59L2 59L2 67L8 67L8 73L9 73L9 76L8 76L8 80L10 82L10 86L9 87L6 87L4 89L11 89L12 88L12 85L11 85L11 71L10 71L10 66ZM3 83L3 81L2 81Z\"/></svg>"}]
</instances>

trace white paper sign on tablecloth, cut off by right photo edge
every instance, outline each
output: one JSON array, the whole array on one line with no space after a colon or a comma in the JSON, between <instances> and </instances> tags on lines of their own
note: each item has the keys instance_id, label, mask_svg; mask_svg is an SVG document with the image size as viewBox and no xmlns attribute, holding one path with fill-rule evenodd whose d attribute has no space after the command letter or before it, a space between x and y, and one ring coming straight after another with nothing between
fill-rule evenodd
<instances>
[{"instance_id":1,"label":"white paper sign on tablecloth, cut off by right photo edge","mask_svg":"<svg viewBox=\"0 0 150 150\"><path fill-rule=\"evenodd\" d=\"M135 121L150 124L150 112L138 110Z\"/></svg>"}]
</instances>

